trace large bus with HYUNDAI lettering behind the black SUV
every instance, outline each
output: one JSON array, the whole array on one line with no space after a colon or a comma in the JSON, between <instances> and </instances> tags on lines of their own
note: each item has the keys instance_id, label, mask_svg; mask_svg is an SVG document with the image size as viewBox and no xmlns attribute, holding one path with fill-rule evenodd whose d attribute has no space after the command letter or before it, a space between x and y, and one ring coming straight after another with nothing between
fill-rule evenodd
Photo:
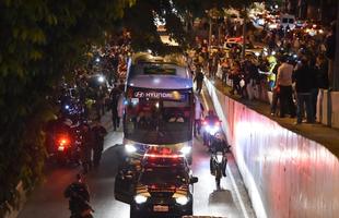
<instances>
[{"instance_id":1,"label":"large bus with HYUNDAI lettering behind the black SUV","mask_svg":"<svg viewBox=\"0 0 339 218\"><path fill-rule=\"evenodd\" d=\"M171 148L191 161L192 77L183 56L137 53L129 60L125 90L124 145L130 157ZM168 149L165 149L168 150Z\"/></svg>"}]
</instances>

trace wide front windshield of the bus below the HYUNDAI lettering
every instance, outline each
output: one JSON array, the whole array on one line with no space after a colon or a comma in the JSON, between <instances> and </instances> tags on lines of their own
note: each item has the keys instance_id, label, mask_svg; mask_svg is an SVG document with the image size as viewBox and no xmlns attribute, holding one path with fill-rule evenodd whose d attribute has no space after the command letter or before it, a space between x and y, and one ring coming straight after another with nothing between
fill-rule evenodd
<instances>
[{"instance_id":1,"label":"wide front windshield of the bus below the HYUNDAI lettering","mask_svg":"<svg viewBox=\"0 0 339 218\"><path fill-rule=\"evenodd\" d=\"M144 94L144 93L143 93ZM148 93L147 93L148 94ZM125 137L144 144L175 144L191 140L191 94L173 99L168 93L127 98ZM170 97L168 97L170 96Z\"/></svg>"}]
</instances>

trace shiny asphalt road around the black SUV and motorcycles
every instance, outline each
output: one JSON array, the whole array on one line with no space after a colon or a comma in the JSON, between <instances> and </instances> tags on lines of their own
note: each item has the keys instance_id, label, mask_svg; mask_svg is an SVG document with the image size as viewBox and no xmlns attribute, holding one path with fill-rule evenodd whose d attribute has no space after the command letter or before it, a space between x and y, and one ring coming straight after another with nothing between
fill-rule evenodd
<instances>
[{"instance_id":1,"label":"shiny asphalt road around the black SUV and motorcycles","mask_svg":"<svg viewBox=\"0 0 339 218\"><path fill-rule=\"evenodd\" d=\"M114 198L114 178L122 149L118 144L121 143L122 133L113 132L112 129L108 132L101 166L86 177L91 205L96 218L128 218L129 205ZM222 189L217 191L214 178L209 173L210 156L201 142L201 137L196 138L194 146L192 172L199 178L195 184L194 214L227 218L255 217L232 155L229 156L229 175L222 179ZM80 167L58 168L50 165L45 182L34 190L19 218L69 217L68 201L62 194L79 171Z\"/></svg>"}]
</instances>

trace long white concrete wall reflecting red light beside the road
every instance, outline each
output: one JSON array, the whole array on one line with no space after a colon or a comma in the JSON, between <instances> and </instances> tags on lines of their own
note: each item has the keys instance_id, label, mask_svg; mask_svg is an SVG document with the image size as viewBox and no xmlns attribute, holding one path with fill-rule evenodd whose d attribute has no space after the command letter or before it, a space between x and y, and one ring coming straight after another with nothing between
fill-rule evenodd
<instances>
[{"instance_id":1,"label":"long white concrete wall reflecting red light beside the road","mask_svg":"<svg viewBox=\"0 0 339 218\"><path fill-rule=\"evenodd\" d=\"M339 217L336 156L206 85L258 218Z\"/></svg>"}]
</instances>

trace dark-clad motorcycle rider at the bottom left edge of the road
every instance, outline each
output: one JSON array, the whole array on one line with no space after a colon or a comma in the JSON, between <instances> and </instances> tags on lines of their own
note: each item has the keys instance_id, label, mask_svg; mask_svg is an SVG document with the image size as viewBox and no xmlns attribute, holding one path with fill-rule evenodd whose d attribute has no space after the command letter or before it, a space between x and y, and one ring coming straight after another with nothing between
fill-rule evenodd
<instances>
[{"instance_id":1,"label":"dark-clad motorcycle rider at the bottom left edge of the road","mask_svg":"<svg viewBox=\"0 0 339 218\"><path fill-rule=\"evenodd\" d=\"M77 181L65 190L63 195L69 198L71 218L91 218L90 191L81 174L77 174Z\"/></svg>"}]
</instances>

